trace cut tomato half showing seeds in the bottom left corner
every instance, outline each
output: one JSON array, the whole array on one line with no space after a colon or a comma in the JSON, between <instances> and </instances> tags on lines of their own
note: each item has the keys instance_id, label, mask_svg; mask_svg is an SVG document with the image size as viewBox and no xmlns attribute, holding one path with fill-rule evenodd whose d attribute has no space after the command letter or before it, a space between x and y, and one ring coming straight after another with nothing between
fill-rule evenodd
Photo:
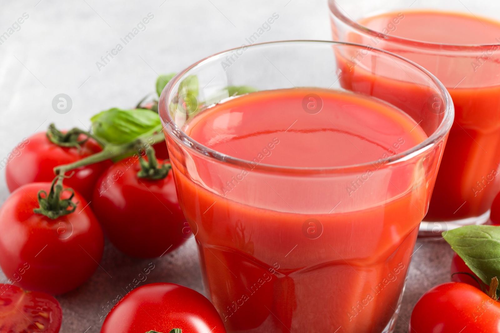
<instances>
[{"instance_id":1,"label":"cut tomato half showing seeds in the bottom left corner","mask_svg":"<svg viewBox=\"0 0 500 333\"><path fill-rule=\"evenodd\" d=\"M0 332L57 333L62 311L52 296L0 284Z\"/></svg>"}]
</instances>

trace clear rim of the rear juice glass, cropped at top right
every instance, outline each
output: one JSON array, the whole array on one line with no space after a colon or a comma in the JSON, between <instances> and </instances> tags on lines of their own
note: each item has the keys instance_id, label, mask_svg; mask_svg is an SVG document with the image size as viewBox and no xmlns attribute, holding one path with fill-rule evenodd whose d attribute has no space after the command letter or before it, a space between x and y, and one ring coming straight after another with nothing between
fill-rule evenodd
<instances>
[{"instance_id":1,"label":"clear rim of the rear juice glass, cropped at top right","mask_svg":"<svg viewBox=\"0 0 500 333\"><path fill-rule=\"evenodd\" d=\"M418 40L418 39L411 39L411 38L404 38L404 37L399 37L399 36L391 36L388 34L384 34L381 31L377 30L372 30L364 25L359 24L356 22L354 19L352 19L350 16L347 17L345 16L338 8L342 9L335 0L328 0L328 7L330 9L330 13L340 19L342 22L345 24L349 25L350 27L354 28L360 33L363 34L368 34L370 36L374 37L380 37L380 35L383 35L383 39L388 40L388 41L394 41L398 43L406 43L410 44L413 46L418 46L422 48L431 48L431 49L437 49L437 50L447 50L447 51L480 51L483 49L490 49L492 47L497 47L500 46L499 43L492 43L492 44L449 44L449 43L436 43L436 42L431 42L431 41L423 41L423 40ZM343 10L343 9L342 9ZM345 11L345 10L343 10ZM473 15L473 14L472 14Z\"/></svg>"}]
</instances>

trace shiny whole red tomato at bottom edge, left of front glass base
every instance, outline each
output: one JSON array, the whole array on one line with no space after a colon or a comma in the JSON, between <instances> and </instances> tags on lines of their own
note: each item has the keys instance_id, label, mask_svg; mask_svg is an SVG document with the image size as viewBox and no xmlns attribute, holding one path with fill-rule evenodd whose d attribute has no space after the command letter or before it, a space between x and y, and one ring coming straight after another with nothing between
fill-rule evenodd
<instances>
[{"instance_id":1,"label":"shiny whole red tomato at bottom edge, left of front glass base","mask_svg":"<svg viewBox=\"0 0 500 333\"><path fill-rule=\"evenodd\" d=\"M153 283L128 293L107 315L101 333L225 333L212 304L192 289Z\"/></svg>"}]
</instances>

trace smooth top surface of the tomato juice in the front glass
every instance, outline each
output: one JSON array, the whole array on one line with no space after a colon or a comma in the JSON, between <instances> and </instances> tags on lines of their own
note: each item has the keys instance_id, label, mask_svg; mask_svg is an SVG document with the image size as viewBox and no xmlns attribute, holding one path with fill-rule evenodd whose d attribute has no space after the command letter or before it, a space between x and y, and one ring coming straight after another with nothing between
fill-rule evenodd
<instances>
[{"instance_id":1,"label":"smooth top surface of the tomato juice in the front glass","mask_svg":"<svg viewBox=\"0 0 500 333\"><path fill-rule=\"evenodd\" d=\"M287 149L273 150L262 163L288 167L367 163L379 159L398 140L409 140L405 147L422 141L423 133L410 132L416 123L405 113L357 94L320 90L316 95L322 109L309 114L302 102L312 93L272 90L229 100L204 111L184 131L208 148L247 161L279 137L280 147Z\"/></svg>"}]
</instances>

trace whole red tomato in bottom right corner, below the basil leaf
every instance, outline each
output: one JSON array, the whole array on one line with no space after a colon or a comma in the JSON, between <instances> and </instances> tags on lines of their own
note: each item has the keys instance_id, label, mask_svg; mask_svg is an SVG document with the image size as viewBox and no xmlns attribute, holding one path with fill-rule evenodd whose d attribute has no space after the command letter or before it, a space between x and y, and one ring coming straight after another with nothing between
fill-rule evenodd
<instances>
[{"instance_id":1,"label":"whole red tomato in bottom right corner, below the basil leaf","mask_svg":"<svg viewBox=\"0 0 500 333\"><path fill-rule=\"evenodd\" d=\"M458 332L500 332L500 303L460 282L448 282L423 294L411 313L409 333Z\"/></svg>"}]
</instances>

